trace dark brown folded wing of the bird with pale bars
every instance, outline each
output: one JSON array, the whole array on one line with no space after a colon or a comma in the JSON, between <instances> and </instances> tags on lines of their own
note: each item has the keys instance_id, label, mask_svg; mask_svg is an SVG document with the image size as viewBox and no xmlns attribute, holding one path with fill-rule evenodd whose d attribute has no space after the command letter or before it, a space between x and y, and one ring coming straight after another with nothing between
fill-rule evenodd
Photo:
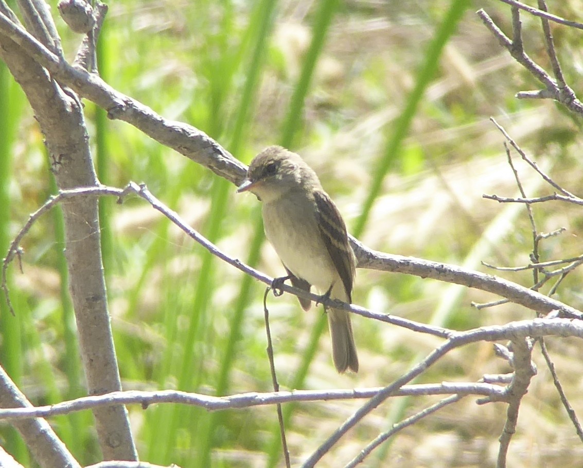
<instances>
[{"instance_id":1,"label":"dark brown folded wing of the bird with pale bars","mask_svg":"<svg viewBox=\"0 0 583 468\"><path fill-rule=\"evenodd\" d=\"M324 191L314 192L318 212L318 227L336 270L342 279L348 302L352 302L354 254L348 243L346 225L331 198Z\"/></svg>"}]
</instances>

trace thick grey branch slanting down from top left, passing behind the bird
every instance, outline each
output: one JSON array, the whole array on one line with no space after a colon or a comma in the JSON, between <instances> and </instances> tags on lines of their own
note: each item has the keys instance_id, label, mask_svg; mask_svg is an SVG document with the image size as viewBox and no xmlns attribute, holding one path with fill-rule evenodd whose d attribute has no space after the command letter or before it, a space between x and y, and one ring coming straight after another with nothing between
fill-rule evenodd
<instances>
[{"instance_id":1,"label":"thick grey branch slanting down from top left, passing behind the bird","mask_svg":"<svg viewBox=\"0 0 583 468\"><path fill-rule=\"evenodd\" d=\"M0 15L0 33L3 33L6 28ZM115 92L99 77L60 62L55 55L51 55L49 51L45 50L42 44L34 44L30 40L31 38L22 36L21 31L13 31L13 29L8 28L8 32L16 34L23 43L26 43L27 47L30 47L27 52L50 69L53 76L70 85L72 89L93 100L104 109L114 110L111 117L118 117L128 121L150 137L209 167L218 175L235 184L243 180L246 172L245 166L203 132L189 125L165 121L151 109L121 93ZM434 278L468 287L479 287L484 291L507 297L513 302L520 303L539 312L548 313L550 310L559 309L573 316L581 316L573 308L569 308L543 295L537 295L537 293L528 291L526 288L512 285L510 282L505 282L500 278L474 271L464 271L456 266L375 252L353 238L351 239L351 245L361 268L399 271L399 273L418 275L423 278ZM291 287L288 285L284 285L283 289L286 292L291 292Z\"/></svg>"}]
</instances>

